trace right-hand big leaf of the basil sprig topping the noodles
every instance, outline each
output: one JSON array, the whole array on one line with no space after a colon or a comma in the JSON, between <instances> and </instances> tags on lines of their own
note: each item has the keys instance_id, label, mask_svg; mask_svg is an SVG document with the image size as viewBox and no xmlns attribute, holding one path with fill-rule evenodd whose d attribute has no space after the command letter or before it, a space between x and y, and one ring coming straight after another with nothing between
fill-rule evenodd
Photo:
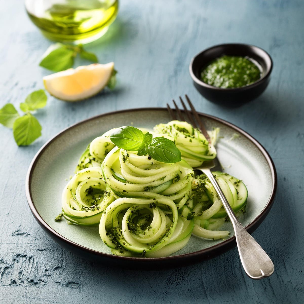
<instances>
[{"instance_id":1,"label":"right-hand big leaf of the basil sprig topping the noodles","mask_svg":"<svg viewBox=\"0 0 304 304\"><path fill-rule=\"evenodd\" d=\"M181 151L168 138L153 138L147 147L147 152L152 158L163 163L177 163L181 161Z\"/></svg>"}]
</instances>

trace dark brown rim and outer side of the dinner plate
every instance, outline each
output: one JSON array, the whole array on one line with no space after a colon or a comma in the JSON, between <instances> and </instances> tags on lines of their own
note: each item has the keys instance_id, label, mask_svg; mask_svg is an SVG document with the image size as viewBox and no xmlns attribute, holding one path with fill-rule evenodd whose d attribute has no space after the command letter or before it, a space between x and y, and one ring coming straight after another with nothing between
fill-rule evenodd
<instances>
[{"instance_id":1,"label":"dark brown rim and outer side of the dinner plate","mask_svg":"<svg viewBox=\"0 0 304 304\"><path fill-rule=\"evenodd\" d=\"M109 259L111 261L116 261L119 266L124 266L125 263L126 264L133 263L133 265L134 265L134 263L138 263L139 261L140 261L139 265L141 265L143 267L148 266L147 268L149 268L149 269L154 269L156 264L161 265L162 268L168 268L171 266L180 265L181 261L186 262L186 264L194 264L194 263L200 262L202 260L207 260L207 259L210 259L217 255L220 255L220 254L232 249L233 247L235 247L235 245L236 245L235 236L233 236L227 240L224 240L223 242L221 242L219 244L215 244L208 248L198 250L195 252L186 253L186 254L175 255L175 256L157 257L157 258L117 256L117 255L107 254L104 252L90 249L88 247L82 246L78 243L75 243L75 242L67 239L66 237L64 237L63 235L58 233L56 230L54 230L52 227L50 227L44 221L42 216L40 216L39 212L36 209L35 203L33 202L30 185L31 185L33 171L35 170L36 164L39 161L40 157L42 156L44 150L46 150L46 148L54 140L56 140L58 137L62 136L68 130L71 130L81 124L85 124L88 121L100 119L104 116L109 116L109 115L113 115L113 114L115 115L115 114L119 114L119 113L137 112L137 111L147 111L147 112L149 112L149 111L166 111L167 112L167 108L161 108L161 107L134 108L134 109L111 111L111 112L106 112L103 114L95 115L95 116L89 117L87 119L83 119L83 120L79 121L78 123L74 123L71 126L64 128L59 133L57 133L53 137L51 137L46 143L43 144L43 146L35 154L35 156L33 157L32 161L29 165L29 168L28 168L28 171L26 174L26 183L25 183L26 199L28 201L29 208L30 208L34 218L38 222L38 224L43 228L43 230L53 240L55 240L61 246L66 247L68 250L74 252L75 254L78 254L85 258L91 258L94 260L95 260L95 258L97 258L97 260L99 260L99 261L104 261L105 259ZM273 160L271 159L271 156L269 155L268 151L262 146L262 144L259 143L253 136L251 136L249 133L247 133L243 129L237 127L236 125L234 125L224 119L218 118L216 116L212 116L212 115L202 113L202 112L198 112L198 114L199 114L199 116L206 117L211 120L215 120L219 123L222 123L226 126L229 126L233 130L236 130L237 132L241 133L243 136L245 136L248 140L250 140L258 148L258 150L263 154L265 160L268 163L268 166L271 171L271 178L273 181L273 185L271 188L270 197L269 197L268 202L266 203L265 207L263 208L263 210L256 216L255 219L253 219L247 226L244 227L248 232L252 233L262 223L262 221L267 216L268 212L270 211L270 209L273 205L276 190L277 190L277 172L276 172L275 164L274 164ZM74 249L75 249L75 251L74 251ZM215 254L210 256L210 254L212 252L214 252ZM89 256L87 256L87 254L89 254Z\"/></svg>"}]
</instances>

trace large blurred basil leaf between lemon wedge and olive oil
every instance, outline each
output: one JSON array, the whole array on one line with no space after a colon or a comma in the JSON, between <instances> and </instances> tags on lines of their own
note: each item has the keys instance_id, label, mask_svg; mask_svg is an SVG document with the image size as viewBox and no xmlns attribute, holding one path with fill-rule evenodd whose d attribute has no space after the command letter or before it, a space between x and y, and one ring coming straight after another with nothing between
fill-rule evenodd
<instances>
[{"instance_id":1,"label":"large blurred basil leaf between lemon wedge and olive oil","mask_svg":"<svg viewBox=\"0 0 304 304\"><path fill-rule=\"evenodd\" d=\"M51 46L54 49L54 46ZM48 52L48 51L47 51ZM40 67L59 72L73 66L75 51L64 45L50 51L40 62Z\"/></svg>"}]
</instances>

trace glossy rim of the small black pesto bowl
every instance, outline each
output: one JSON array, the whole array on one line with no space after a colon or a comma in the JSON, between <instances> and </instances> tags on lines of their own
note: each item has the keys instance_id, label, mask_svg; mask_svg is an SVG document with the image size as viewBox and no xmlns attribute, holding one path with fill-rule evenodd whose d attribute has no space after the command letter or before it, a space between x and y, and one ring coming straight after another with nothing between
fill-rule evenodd
<instances>
[{"instance_id":1,"label":"glossy rim of the small black pesto bowl","mask_svg":"<svg viewBox=\"0 0 304 304\"><path fill-rule=\"evenodd\" d=\"M205 53L206 51L209 51L213 48L228 47L228 46L239 46L239 47L240 46L245 46L245 47L248 47L248 48L258 49L258 50L262 51L266 55L266 57L268 57L268 59L270 60L270 66L268 67L267 73L264 74L259 80L253 82L252 84L246 85L246 86L243 86L243 87L240 87L240 88L218 88L218 87L215 87L215 86L212 86L212 85L208 85L207 83L201 81L199 78L197 78L195 76L195 74L193 72L193 63L194 63L194 60L197 57L201 56L203 53ZM205 88L208 88L208 89L211 89L211 90L215 90L215 91L221 91L221 92L242 92L242 91L246 91L250 88L257 87L262 82L264 82L270 76L272 68L273 68L273 61L272 61L271 56L268 54L268 52L266 52L261 47L257 47L256 45L246 44L246 43L222 43L222 44L214 45L212 47L208 47L208 48L202 50L201 52L199 52L198 54L196 54L194 57L192 57L192 59L190 61L190 64L189 64L189 73L190 73L190 76L191 76L192 80L195 81L198 85L200 85L202 87L205 87Z\"/></svg>"}]
</instances>

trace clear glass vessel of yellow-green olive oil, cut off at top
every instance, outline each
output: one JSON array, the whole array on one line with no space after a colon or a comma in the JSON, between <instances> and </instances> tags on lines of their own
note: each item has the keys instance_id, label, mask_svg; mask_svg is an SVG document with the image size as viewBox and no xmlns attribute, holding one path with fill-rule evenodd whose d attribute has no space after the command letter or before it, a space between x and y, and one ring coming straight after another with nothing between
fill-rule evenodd
<instances>
[{"instance_id":1,"label":"clear glass vessel of yellow-green olive oil, cut off at top","mask_svg":"<svg viewBox=\"0 0 304 304\"><path fill-rule=\"evenodd\" d=\"M25 6L44 36L73 44L101 37L118 12L118 0L26 0Z\"/></svg>"}]
</instances>

